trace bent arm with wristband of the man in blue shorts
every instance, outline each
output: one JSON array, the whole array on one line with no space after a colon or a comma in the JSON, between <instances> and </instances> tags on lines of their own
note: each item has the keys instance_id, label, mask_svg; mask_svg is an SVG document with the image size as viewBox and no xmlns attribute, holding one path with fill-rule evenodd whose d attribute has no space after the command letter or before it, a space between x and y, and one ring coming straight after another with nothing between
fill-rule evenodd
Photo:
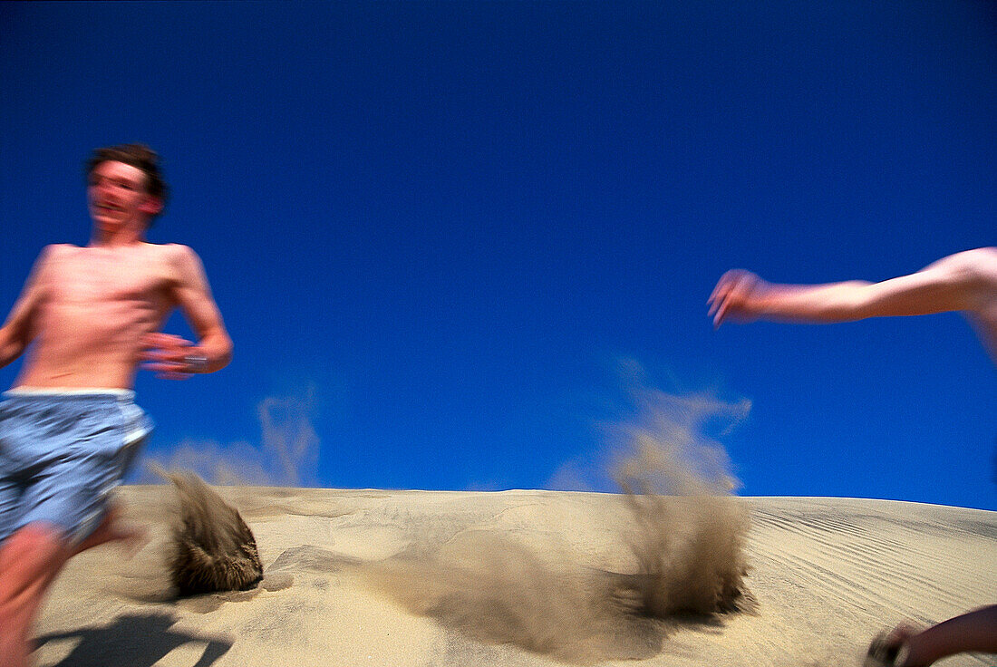
<instances>
[{"instance_id":1,"label":"bent arm with wristband of the man in blue shorts","mask_svg":"<svg viewBox=\"0 0 997 667\"><path fill-rule=\"evenodd\" d=\"M149 334L143 343L152 348L143 353L146 368L172 379L191 373L213 373L232 359L232 340L225 331L200 258L185 245L169 246L170 264L176 275L173 299L193 329L197 342L165 333Z\"/></svg>"}]
</instances>

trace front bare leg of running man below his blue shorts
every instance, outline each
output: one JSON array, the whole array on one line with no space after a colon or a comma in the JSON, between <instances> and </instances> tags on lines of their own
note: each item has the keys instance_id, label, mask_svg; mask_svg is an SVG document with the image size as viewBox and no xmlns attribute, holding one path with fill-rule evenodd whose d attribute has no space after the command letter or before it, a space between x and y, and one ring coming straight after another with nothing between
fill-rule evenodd
<instances>
[{"instance_id":1,"label":"front bare leg of running man below his blue shorts","mask_svg":"<svg viewBox=\"0 0 997 667\"><path fill-rule=\"evenodd\" d=\"M0 667L28 667L35 615L72 555L62 531L45 523L26 525L0 544Z\"/></svg>"}]
</instances>

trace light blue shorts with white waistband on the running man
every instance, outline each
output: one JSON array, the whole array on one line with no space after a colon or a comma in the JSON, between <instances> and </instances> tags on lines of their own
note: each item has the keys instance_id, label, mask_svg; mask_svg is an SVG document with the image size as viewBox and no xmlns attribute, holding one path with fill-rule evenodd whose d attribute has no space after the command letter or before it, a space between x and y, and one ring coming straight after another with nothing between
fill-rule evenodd
<instances>
[{"instance_id":1,"label":"light blue shorts with white waistband on the running man","mask_svg":"<svg viewBox=\"0 0 997 667\"><path fill-rule=\"evenodd\" d=\"M28 523L86 539L111 492L153 431L133 402L112 389L18 388L0 402L0 541Z\"/></svg>"}]
</instances>

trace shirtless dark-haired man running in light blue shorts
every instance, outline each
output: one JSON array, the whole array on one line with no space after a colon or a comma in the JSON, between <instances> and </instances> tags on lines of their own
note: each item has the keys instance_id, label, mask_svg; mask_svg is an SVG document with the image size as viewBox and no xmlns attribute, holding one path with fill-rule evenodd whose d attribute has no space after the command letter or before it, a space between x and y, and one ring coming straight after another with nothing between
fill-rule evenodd
<instances>
[{"instance_id":1,"label":"shirtless dark-haired man running in light blue shorts","mask_svg":"<svg viewBox=\"0 0 997 667\"><path fill-rule=\"evenodd\" d=\"M133 403L140 363L182 379L232 353L197 255L145 241L166 199L157 155L100 149L87 176L90 244L46 247L0 328L0 367L28 349L0 403L2 667L28 664L33 619L69 558L137 536L109 495L152 431ZM196 345L158 333L175 307Z\"/></svg>"}]
</instances>

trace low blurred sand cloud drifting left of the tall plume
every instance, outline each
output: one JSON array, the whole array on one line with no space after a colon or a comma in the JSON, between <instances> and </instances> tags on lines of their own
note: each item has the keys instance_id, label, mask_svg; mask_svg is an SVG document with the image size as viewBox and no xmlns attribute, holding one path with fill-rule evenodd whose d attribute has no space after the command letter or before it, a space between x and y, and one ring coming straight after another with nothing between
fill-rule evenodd
<instances>
[{"instance_id":1,"label":"low blurred sand cloud drifting left of the tall plume","mask_svg":"<svg viewBox=\"0 0 997 667\"><path fill-rule=\"evenodd\" d=\"M508 535L469 531L431 553L361 572L412 613L481 642L577 663L656 652L647 649L654 629L614 614L611 589L598 573L551 563L541 552Z\"/></svg>"}]
</instances>

